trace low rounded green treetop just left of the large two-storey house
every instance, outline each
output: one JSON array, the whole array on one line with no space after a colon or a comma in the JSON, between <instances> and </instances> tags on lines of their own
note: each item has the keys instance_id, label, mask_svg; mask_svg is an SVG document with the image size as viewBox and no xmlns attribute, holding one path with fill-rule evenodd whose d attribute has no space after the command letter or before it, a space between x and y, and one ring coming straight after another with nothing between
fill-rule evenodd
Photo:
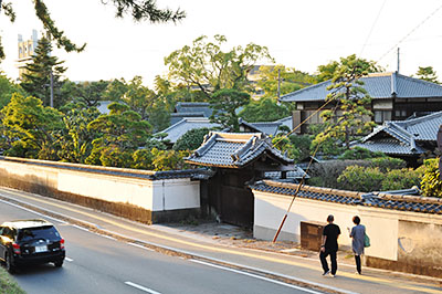
<instances>
[{"instance_id":1,"label":"low rounded green treetop just left of the large two-storey house","mask_svg":"<svg viewBox=\"0 0 442 294\"><path fill-rule=\"evenodd\" d=\"M270 97L263 97L260 101L251 101L239 113L239 116L249 123L254 122L274 122L291 115L285 105L277 103Z\"/></svg>"}]
</instances>

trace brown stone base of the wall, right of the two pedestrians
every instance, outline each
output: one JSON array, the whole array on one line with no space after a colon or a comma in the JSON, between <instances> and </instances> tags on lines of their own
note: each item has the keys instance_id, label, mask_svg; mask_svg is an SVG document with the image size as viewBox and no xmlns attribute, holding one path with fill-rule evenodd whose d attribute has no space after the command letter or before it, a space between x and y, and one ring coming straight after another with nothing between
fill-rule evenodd
<instances>
[{"instance_id":1,"label":"brown stone base of the wall, right of the two pedestrians","mask_svg":"<svg viewBox=\"0 0 442 294\"><path fill-rule=\"evenodd\" d=\"M366 265L377 269L392 270L411 274L442 277L442 265L422 264L422 261L408 263L402 261L389 261L378 258L366 256Z\"/></svg>"}]
</instances>

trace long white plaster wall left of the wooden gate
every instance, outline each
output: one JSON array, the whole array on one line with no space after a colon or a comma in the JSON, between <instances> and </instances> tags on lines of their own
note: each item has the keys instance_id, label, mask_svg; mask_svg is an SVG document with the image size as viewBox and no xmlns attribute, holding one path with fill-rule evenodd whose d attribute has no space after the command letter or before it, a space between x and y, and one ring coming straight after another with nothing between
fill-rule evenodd
<instances>
[{"instance_id":1,"label":"long white plaster wall left of the wooden gate","mask_svg":"<svg viewBox=\"0 0 442 294\"><path fill-rule=\"evenodd\" d=\"M10 177L18 177L60 191L110 202L130 203L150 211L200 207L199 181L192 181L190 178L150 180L57 167L66 165L75 166L72 164L50 161L53 167L48 167L38 165L39 160L20 158L19 161L0 160L0 169L3 169ZM86 169L87 167L92 168L84 165L77 166ZM106 167L98 167L98 169L112 171L125 170ZM140 175L155 174L138 170L131 170L131 172L139 172Z\"/></svg>"}]
</instances>

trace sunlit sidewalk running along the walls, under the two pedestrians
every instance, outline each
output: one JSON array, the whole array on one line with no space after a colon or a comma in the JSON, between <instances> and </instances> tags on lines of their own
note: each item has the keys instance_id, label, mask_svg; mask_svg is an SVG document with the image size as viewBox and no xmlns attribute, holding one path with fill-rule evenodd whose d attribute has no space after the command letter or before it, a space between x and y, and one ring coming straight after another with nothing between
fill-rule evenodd
<instances>
[{"instance_id":1,"label":"sunlit sidewalk running along the walls, under the two pedestrians","mask_svg":"<svg viewBox=\"0 0 442 294\"><path fill-rule=\"evenodd\" d=\"M309 285L326 293L442 293L441 280L362 267L355 275L350 252L339 251L337 277L322 276L318 253L293 242L259 241L251 231L224 223L146 225L88 208L0 188L2 202L24 206L92 233L185 259L272 280ZM69 241L69 240L67 240ZM317 293L317 292L316 292Z\"/></svg>"}]
</instances>

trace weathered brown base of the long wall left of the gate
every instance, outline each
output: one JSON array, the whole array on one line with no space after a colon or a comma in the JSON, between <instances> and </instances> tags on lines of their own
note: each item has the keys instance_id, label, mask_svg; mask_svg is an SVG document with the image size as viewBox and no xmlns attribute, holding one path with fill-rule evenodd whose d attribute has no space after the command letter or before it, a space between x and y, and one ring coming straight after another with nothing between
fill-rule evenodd
<instances>
[{"instance_id":1,"label":"weathered brown base of the long wall left of the gate","mask_svg":"<svg viewBox=\"0 0 442 294\"><path fill-rule=\"evenodd\" d=\"M32 179L28 180L25 178L20 179L17 177L11 177L4 169L0 169L0 186L51 197L147 224L177 222L186 220L190 217L198 218L200 213L199 208L178 209L170 211L150 211L129 203L110 202L102 199L60 191L44 185L35 183L35 177L32 177Z\"/></svg>"}]
</instances>

